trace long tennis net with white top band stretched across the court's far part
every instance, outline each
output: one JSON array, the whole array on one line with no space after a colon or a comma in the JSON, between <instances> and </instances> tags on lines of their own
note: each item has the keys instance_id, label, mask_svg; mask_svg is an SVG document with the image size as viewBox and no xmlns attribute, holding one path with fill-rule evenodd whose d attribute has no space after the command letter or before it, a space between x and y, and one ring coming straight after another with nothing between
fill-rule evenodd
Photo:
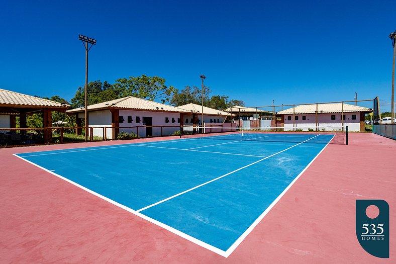
<instances>
[{"instance_id":1,"label":"long tennis net with white top band stretched across the court's far part","mask_svg":"<svg viewBox=\"0 0 396 264\"><path fill-rule=\"evenodd\" d=\"M348 127L221 127L183 126L182 138L205 138L244 141L307 142L348 144Z\"/></svg>"}]
</instances>

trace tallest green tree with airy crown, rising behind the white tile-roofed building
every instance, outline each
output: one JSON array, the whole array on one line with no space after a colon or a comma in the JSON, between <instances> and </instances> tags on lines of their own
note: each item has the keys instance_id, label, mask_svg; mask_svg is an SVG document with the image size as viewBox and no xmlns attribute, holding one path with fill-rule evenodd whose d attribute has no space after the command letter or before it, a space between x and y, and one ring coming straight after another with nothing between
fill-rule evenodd
<instances>
[{"instance_id":1,"label":"tallest green tree with airy crown, rising behind the white tile-roofed building","mask_svg":"<svg viewBox=\"0 0 396 264\"><path fill-rule=\"evenodd\" d=\"M119 98L134 96L150 101L160 100L162 103L169 102L172 95L177 93L175 87L165 85L164 78L144 74L117 79L113 86Z\"/></svg>"}]
</instances>

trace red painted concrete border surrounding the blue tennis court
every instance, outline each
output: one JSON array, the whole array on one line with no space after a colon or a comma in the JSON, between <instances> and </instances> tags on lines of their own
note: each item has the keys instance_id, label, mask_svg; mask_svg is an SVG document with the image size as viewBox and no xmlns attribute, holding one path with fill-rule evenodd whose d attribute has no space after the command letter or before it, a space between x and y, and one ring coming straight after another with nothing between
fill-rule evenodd
<instances>
[{"instance_id":1,"label":"red painted concrete border surrounding the blue tennis court","mask_svg":"<svg viewBox=\"0 0 396 264\"><path fill-rule=\"evenodd\" d=\"M0 262L396 262L396 142L375 134L350 133L349 146L328 145L228 258L11 155L163 139L0 149ZM360 247L356 199L389 203L389 259Z\"/></svg>"}]
</instances>

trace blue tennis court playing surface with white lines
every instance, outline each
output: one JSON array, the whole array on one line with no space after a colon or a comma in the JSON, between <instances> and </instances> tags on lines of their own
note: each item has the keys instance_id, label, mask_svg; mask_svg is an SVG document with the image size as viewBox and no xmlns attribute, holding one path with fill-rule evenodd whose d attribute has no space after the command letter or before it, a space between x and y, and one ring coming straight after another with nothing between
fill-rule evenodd
<instances>
[{"instance_id":1,"label":"blue tennis court playing surface with white lines","mask_svg":"<svg viewBox=\"0 0 396 264\"><path fill-rule=\"evenodd\" d=\"M332 139L299 137L189 138L17 156L227 255Z\"/></svg>"}]
</instances>

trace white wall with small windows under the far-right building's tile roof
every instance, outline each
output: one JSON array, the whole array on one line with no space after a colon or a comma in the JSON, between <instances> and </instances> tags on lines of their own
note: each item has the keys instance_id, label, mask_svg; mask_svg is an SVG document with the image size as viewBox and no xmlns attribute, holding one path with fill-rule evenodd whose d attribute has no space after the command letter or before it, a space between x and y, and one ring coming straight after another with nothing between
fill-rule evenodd
<instances>
[{"instance_id":1,"label":"white wall with small windows under the far-right building's tile roof","mask_svg":"<svg viewBox=\"0 0 396 264\"><path fill-rule=\"evenodd\" d=\"M331 120L332 115L336 116L335 120ZM348 126L348 131L360 131L360 113L344 113L344 115L344 127ZM352 120L352 115L356 115L356 120ZM291 117L291 120L287 120L288 116ZM294 121L297 128L306 128L305 130L307 130L308 127L316 126L316 114L296 114L295 116L299 117L299 120ZM303 116L306 116L306 120L303 120ZM341 122L341 113L318 114L319 127L341 127ZM293 115L284 115L284 127L293 127Z\"/></svg>"}]
</instances>

